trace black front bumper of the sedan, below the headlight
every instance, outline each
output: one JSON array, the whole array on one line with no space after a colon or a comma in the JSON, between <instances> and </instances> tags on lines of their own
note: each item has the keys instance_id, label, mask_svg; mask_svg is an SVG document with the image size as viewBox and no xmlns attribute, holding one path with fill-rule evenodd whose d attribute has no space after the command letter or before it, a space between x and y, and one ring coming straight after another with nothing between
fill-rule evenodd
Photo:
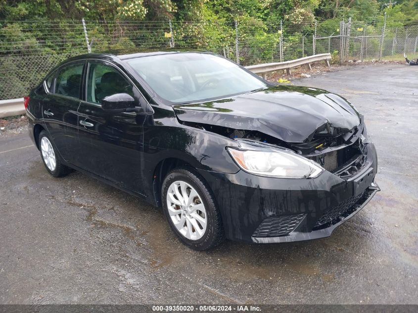
<instances>
[{"instance_id":1,"label":"black front bumper of the sedan, below the headlight","mask_svg":"<svg viewBox=\"0 0 418 313\"><path fill-rule=\"evenodd\" d=\"M244 171L200 174L214 192L227 238L255 243L317 239L329 236L380 190L374 182L374 145L367 144L365 153L363 168L350 179L326 171L314 179L268 178Z\"/></svg>"}]
</instances>

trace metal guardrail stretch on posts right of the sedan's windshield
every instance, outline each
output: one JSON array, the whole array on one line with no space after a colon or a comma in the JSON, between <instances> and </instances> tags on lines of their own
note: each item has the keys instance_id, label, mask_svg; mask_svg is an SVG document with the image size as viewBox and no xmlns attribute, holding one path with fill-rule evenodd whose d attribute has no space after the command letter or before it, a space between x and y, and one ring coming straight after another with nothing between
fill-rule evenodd
<instances>
[{"instance_id":1,"label":"metal guardrail stretch on posts right of the sedan's windshield","mask_svg":"<svg viewBox=\"0 0 418 313\"><path fill-rule=\"evenodd\" d=\"M330 53L315 54L311 56L305 56L300 59L285 61L285 62L276 62L276 63L264 63L257 65L246 66L245 68L250 70L255 74L261 74L261 76L266 79L266 73L286 70L287 74L290 75L290 69L293 67L298 67L301 65L308 65L308 68L312 70L311 63L318 61L325 61L325 64L329 66L329 60L331 59Z\"/></svg>"}]
</instances>

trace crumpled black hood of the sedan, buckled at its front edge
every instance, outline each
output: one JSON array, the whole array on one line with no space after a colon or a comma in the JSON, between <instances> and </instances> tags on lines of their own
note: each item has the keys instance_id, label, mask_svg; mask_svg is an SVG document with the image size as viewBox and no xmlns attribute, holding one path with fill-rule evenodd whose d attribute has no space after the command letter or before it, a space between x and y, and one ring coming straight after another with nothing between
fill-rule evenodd
<instances>
[{"instance_id":1,"label":"crumpled black hood of the sedan, buckled at its front edge","mask_svg":"<svg viewBox=\"0 0 418 313\"><path fill-rule=\"evenodd\" d=\"M278 86L228 99L174 106L181 121L252 130L286 142L309 142L314 134L347 133L360 124L344 98L322 89Z\"/></svg>"}]
</instances>

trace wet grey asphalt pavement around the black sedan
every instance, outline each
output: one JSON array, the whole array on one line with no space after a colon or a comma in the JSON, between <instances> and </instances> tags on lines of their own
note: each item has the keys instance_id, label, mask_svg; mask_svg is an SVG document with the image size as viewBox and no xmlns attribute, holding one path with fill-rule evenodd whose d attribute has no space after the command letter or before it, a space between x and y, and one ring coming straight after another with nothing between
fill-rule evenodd
<instances>
[{"instance_id":1,"label":"wet grey asphalt pavement around the black sedan","mask_svg":"<svg viewBox=\"0 0 418 313\"><path fill-rule=\"evenodd\" d=\"M53 178L27 134L0 136L0 303L418 304L417 70L293 82L348 98L379 158L382 191L314 241L192 251L160 209L77 172Z\"/></svg>"}]
</instances>

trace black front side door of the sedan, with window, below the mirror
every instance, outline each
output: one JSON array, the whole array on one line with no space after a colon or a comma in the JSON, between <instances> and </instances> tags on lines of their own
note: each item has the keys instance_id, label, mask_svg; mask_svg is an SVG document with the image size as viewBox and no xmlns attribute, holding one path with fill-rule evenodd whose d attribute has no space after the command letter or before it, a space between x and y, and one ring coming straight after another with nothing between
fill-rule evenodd
<instances>
[{"instance_id":1,"label":"black front side door of the sedan, with window, below the mirror","mask_svg":"<svg viewBox=\"0 0 418 313\"><path fill-rule=\"evenodd\" d=\"M87 68L86 92L78 110L82 168L141 193L142 125L145 116L108 113L102 110L100 104L104 97L115 93L128 93L139 103L135 87L111 63L91 61Z\"/></svg>"}]
</instances>

